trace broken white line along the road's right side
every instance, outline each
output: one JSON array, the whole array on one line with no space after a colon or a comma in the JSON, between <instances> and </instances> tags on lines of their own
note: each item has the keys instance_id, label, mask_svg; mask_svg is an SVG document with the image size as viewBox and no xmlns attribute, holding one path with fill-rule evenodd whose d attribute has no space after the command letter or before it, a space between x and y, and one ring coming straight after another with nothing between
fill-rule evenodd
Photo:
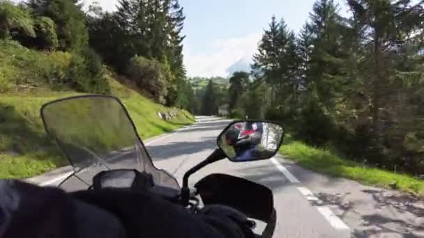
<instances>
[{"instance_id":1,"label":"broken white line along the road's right side","mask_svg":"<svg viewBox=\"0 0 424 238\"><path fill-rule=\"evenodd\" d=\"M292 175L292 173L289 172L287 168L285 168L285 166L282 166L282 164L280 164L280 162L275 157L271 158L271 162L273 162L275 167L277 167L278 170L280 170L280 172L285 175L285 177L287 177L287 180L292 183L300 182L296 177L294 177L294 175ZM318 204L321 203L321 200L319 200L309 189L305 187L297 187L297 189L303 196L305 196L306 200ZM330 207L319 206L317 207L317 210L322 216L324 216L324 218L328 221L328 223L330 223L331 226L333 226L335 230L350 230L350 228L331 211Z\"/></svg>"}]
</instances>

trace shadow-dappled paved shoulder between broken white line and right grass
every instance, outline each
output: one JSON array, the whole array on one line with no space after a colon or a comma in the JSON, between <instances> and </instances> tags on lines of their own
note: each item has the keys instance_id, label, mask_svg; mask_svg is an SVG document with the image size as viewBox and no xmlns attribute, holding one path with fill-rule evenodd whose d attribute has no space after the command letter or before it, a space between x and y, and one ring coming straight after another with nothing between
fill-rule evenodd
<instances>
[{"instance_id":1,"label":"shadow-dappled paved shoulder between broken white line and right grass","mask_svg":"<svg viewBox=\"0 0 424 238\"><path fill-rule=\"evenodd\" d=\"M279 159L321 203L351 228L354 237L424 237L424 203L399 191L328 177ZM311 202L312 204L312 202Z\"/></svg>"}]
</instances>

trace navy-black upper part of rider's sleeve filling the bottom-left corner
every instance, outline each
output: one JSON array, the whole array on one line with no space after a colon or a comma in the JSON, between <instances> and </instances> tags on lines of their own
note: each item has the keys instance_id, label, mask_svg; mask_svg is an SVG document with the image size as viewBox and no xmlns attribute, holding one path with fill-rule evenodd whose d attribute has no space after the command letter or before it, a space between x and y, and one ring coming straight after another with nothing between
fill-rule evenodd
<instances>
[{"instance_id":1,"label":"navy-black upper part of rider's sleeve filling the bottom-left corner","mask_svg":"<svg viewBox=\"0 0 424 238\"><path fill-rule=\"evenodd\" d=\"M0 237L123 238L113 214L56 188L0 180Z\"/></svg>"}]
</instances>

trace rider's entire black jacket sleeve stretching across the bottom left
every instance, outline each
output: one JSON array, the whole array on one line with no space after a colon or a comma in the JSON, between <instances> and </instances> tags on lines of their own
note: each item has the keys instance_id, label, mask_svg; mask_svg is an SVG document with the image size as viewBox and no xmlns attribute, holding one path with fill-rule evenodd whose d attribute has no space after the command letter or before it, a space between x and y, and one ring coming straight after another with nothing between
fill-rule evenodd
<instances>
[{"instance_id":1,"label":"rider's entire black jacket sleeve stretching across the bottom left","mask_svg":"<svg viewBox=\"0 0 424 238\"><path fill-rule=\"evenodd\" d=\"M0 238L246 238L226 217L192 214L148 193L78 191L0 180Z\"/></svg>"}]
</instances>

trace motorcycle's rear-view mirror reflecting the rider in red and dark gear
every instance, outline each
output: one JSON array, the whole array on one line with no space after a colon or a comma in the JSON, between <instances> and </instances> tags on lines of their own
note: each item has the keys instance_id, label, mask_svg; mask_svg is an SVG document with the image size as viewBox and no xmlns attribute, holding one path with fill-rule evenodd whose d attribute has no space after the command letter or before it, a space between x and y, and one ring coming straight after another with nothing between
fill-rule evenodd
<instances>
[{"instance_id":1,"label":"motorcycle's rear-view mirror reflecting the rider in red and dark gear","mask_svg":"<svg viewBox=\"0 0 424 238\"><path fill-rule=\"evenodd\" d=\"M284 129L274 122L236 121L218 137L218 146L231 161L255 161L273 157L280 148Z\"/></svg>"}]
</instances>

